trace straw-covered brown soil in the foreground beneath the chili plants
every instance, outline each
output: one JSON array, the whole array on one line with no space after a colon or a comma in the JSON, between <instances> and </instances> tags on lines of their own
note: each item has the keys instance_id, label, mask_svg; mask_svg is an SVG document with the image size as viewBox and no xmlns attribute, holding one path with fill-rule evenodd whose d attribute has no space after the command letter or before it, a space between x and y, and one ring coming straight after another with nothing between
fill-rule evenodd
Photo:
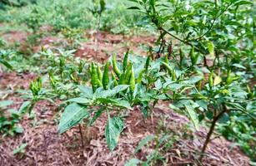
<instances>
[{"instance_id":1,"label":"straw-covered brown soil in the foreground beneath the chili plants","mask_svg":"<svg viewBox=\"0 0 256 166\"><path fill-rule=\"evenodd\" d=\"M18 108L22 104L19 98L11 99L16 103L12 107ZM171 149L165 151L168 165L196 165L195 159L202 147L206 129L200 129L192 137L193 131L186 127L190 124L189 120L169 110L167 104L159 103L153 110L153 118L148 119L143 119L138 107L130 111L118 147L110 152L104 138L107 115L103 114L92 127L83 127L85 146L82 147L78 126L65 134L58 134L59 102L52 104L40 101L34 108L35 119L29 120L25 116L21 121L23 134L0 139L0 165L124 165L133 158L133 151L141 139L152 134L158 135L163 130L173 135L188 135L178 139ZM25 153L14 155L13 149L23 143L28 144ZM225 139L213 139L203 165L248 165L249 159L238 148L232 149L230 145ZM135 156L145 160L152 150L151 146L148 149L143 147Z\"/></svg>"}]
</instances>

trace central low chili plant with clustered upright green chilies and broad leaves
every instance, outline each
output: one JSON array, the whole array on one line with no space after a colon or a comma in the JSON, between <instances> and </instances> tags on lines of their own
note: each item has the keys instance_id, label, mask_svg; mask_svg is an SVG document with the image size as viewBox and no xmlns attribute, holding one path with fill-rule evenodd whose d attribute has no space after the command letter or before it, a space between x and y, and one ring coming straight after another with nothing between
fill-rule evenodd
<instances>
[{"instance_id":1,"label":"central low chili plant with clustered upright green chilies and broad leaves","mask_svg":"<svg viewBox=\"0 0 256 166\"><path fill-rule=\"evenodd\" d=\"M105 128L105 137L108 148L113 150L123 131L123 110L131 110L133 105L141 105L143 115L147 115L150 107L149 102L153 98L152 95L148 95L150 94L149 88L143 84L147 75L142 73L151 71L149 60L149 58L148 60L143 58L142 61L145 63L143 69L138 67L137 70L134 70L133 66L141 66L141 63L138 59L131 61L127 52L123 58L122 66L119 66L116 57L113 56L113 71L111 71L111 63L108 61L103 67L103 72L97 64L92 63L89 66L91 87L78 85L80 91L78 97L66 101L68 106L65 108L58 125L59 133L62 134L74 125L78 125L83 119L87 120L88 125L93 125L93 122L106 112L108 122ZM83 138L82 132L80 134Z\"/></svg>"}]
</instances>

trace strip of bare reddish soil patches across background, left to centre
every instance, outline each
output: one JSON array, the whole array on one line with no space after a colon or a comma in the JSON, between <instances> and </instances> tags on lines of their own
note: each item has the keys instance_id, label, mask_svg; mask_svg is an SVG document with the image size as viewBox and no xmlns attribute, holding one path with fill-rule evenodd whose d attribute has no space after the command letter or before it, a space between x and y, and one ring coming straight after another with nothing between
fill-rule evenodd
<instances>
[{"instance_id":1,"label":"strip of bare reddish soil patches across background, left to centre","mask_svg":"<svg viewBox=\"0 0 256 166\"><path fill-rule=\"evenodd\" d=\"M42 27L41 31L45 32L51 30L51 27ZM58 46L67 47L70 44L67 39L53 36L46 36L38 39L38 46L33 46L29 48L27 41L28 33L11 31L4 33L3 39L8 41L9 44L13 45L19 43L19 50L27 52L29 49L31 51L38 52L41 51L41 48L50 48L54 49ZM140 56L146 56L146 51L140 46L152 46L153 42L156 41L154 37L148 36L137 36L137 37L125 37L123 35L114 35L109 32L92 32L86 31L83 39L88 39L88 41L80 43L77 51L75 52L76 56L87 59L88 61L98 61L103 62L108 59L109 56L112 56L113 53L118 54L118 56L123 56L123 53L127 51L127 48L130 48L134 54ZM98 46L96 39L98 40Z\"/></svg>"}]
</instances>

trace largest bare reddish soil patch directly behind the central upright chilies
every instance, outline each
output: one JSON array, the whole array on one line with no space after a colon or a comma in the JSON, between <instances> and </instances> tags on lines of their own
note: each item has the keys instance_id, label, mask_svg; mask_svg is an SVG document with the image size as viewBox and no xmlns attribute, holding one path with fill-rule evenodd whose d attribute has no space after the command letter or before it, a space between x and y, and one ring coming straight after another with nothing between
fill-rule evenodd
<instances>
[{"instance_id":1,"label":"largest bare reddish soil patch directly behind the central upright chilies","mask_svg":"<svg viewBox=\"0 0 256 166\"><path fill-rule=\"evenodd\" d=\"M88 32L87 34L86 37L90 41L81 43L76 56L86 58L88 61L103 62L113 54L123 56L127 48L130 48L134 54L146 56L146 51L139 48L139 46L152 46L155 41L154 37L124 37L123 35L113 35L108 32L95 32L93 34Z\"/></svg>"}]
</instances>

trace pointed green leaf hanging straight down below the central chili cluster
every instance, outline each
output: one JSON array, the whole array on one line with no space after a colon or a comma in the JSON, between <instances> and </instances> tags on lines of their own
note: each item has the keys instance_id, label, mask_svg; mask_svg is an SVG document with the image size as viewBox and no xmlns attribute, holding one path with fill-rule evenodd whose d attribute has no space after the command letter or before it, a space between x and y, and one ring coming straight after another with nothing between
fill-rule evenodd
<instances>
[{"instance_id":1,"label":"pointed green leaf hanging straight down below the central chili cluster","mask_svg":"<svg viewBox=\"0 0 256 166\"><path fill-rule=\"evenodd\" d=\"M107 126L105 129L105 137L107 139L108 148L113 151L118 145L118 139L123 131L123 121L119 117L108 117Z\"/></svg>"}]
</instances>

